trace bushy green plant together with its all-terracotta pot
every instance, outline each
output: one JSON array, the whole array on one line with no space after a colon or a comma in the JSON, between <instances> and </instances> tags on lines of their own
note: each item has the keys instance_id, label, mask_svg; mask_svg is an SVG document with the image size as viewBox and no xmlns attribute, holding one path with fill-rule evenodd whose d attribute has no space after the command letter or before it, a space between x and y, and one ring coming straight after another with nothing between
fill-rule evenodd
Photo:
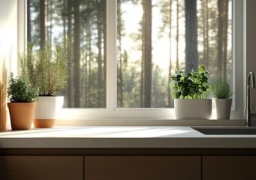
<instances>
[{"instance_id":1,"label":"bushy green plant together with its all-terracotta pot","mask_svg":"<svg viewBox=\"0 0 256 180\"><path fill-rule=\"evenodd\" d=\"M8 103L12 130L29 130L38 101L38 88L32 87L26 77L14 78L11 74L8 87Z\"/></svg>"}]
</instances>

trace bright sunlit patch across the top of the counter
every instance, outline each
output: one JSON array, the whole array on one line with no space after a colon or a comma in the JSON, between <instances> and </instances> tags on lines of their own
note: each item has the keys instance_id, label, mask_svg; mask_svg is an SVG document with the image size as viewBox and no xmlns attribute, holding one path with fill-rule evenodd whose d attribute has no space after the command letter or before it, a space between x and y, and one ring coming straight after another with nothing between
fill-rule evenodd
<instances>
[{"instance_id":1,"label":"bright sunlit patch across the top of the counter","mask_svg":"<svg viewBox=\"0 0 256 180\"><path fill-rule=\"evenodd\" d=\"M32 130L8 130L0 137L128 137L150 138L182 136L190 127L53 127Z\"/></svg>"}]
</instances>

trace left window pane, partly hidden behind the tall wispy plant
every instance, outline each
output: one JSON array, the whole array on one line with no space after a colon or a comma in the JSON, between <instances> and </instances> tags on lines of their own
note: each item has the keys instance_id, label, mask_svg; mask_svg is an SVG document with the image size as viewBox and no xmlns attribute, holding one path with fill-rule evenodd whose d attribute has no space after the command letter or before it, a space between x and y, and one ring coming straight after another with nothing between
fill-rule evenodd
<instances>
[{"instance_id":1,"label":"left window pane, partly hidden behind the tall wispy plant","mask_svg":"<svg viewBox=\"0 0 256 180\"><path fill-rule=\"evenodd\" d=\"M72 37L65 107L106 107L106 0L28 0L28 40Z\"/></svg>"}]
</instances>

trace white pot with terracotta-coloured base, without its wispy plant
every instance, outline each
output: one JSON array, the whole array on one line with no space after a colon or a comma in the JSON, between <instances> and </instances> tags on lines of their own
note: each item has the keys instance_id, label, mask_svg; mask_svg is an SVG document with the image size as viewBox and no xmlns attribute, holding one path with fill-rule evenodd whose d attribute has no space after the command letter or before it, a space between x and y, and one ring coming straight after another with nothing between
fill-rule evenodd
<instances>
[{"instance_id":1,"label":"white pot with terracotta-coloured base, without its wispy plant","mask_svg":"<svg viewBox=\"0 0 256 180\"><path fill-rule=\"evenodd\" d=\"M41 96L35 108L35 127L53 127L59 110L62 109L63 96Z\"/></svg>"}]
</instances>

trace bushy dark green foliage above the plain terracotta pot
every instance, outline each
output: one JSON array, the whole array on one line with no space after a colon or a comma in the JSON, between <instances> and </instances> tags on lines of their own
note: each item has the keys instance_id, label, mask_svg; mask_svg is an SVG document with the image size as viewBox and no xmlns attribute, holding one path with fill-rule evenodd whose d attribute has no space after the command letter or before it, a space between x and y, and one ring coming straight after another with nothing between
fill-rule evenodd
<instances>
[{"instance_id":1,"label":"bushy dark green foliage above the plain terracotta pot","mask_svg":"<svg viewBox=\"0 0 256 180\"><path fill-rule=\"evenodd\" d=\"M14 78L11 74L8 87L8 98L11 102L35 102L38 101L39 89L32 87L26 77Z\"/></svg>"}]
</instances>

